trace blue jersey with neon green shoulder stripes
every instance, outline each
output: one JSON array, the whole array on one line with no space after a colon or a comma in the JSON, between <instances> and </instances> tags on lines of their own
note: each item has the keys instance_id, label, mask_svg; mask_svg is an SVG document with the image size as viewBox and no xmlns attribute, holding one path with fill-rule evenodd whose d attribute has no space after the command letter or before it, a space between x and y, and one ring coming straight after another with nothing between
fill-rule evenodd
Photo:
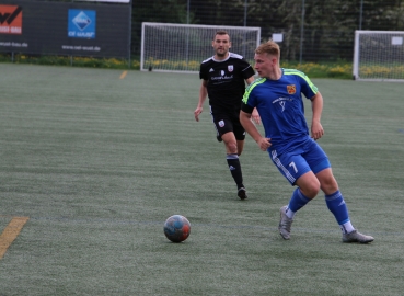
<instances>
[{"instance_id":1,"label":"blue jersey with neon green shoulder stripes","mask_svg":"<svg viewBox=\"0 0 404 296\"><path fill-rule=\"evenodd\" d=\"M242 110L252 113L256 107L265 137L270 138L269 151L277 153L292 150L308 140L309 128L304 118L302 93L307 99L318 93L318 88L301 71L281 69L279 80L261 78L245 90Z\"/></svg>"}]
</instances>

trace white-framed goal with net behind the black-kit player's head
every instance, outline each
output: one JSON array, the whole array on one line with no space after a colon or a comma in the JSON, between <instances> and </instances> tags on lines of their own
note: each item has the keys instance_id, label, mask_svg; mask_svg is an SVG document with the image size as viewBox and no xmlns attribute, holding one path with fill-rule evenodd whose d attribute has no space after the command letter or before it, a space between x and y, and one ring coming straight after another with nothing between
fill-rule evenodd
<instances>
[{"instance_id":1,"label":"white-framed goal with net behind the black-kit player's head","mask_svg":"<svg viewBox=\"0 0 404 296\"><path fill-rule=\"evenodd\" d=\"M218 30L230 34L231 52L252 61L261 42L261 27L142 23L140 70L198 72L213 56L211 42Z\"/></svg>"}]
</instances>

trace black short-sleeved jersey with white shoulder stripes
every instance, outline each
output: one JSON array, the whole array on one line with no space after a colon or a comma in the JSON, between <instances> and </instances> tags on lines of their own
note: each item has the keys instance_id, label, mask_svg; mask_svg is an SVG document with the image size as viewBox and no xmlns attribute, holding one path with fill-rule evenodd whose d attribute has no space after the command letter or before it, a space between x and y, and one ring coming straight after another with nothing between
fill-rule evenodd
<instances>
[{"instance_id":1,"label":"black short-sleeved jersey with white shoulder stripes","mask_svg":"<svg viewBox=\"0 0 404 296\"><path fill-rule=\"evenodd\" d=\"M224 60L213 57L200 64L199 77L208 80L209 105L238 110L245 91L244 80L255 73L251 65L240 55L229 53Z\"/></svg>"}]
</instances>

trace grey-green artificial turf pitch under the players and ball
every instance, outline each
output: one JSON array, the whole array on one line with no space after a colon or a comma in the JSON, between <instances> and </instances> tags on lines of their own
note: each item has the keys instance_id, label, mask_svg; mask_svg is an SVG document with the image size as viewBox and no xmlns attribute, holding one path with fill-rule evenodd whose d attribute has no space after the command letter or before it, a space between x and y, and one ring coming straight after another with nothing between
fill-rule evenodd
<instances>
[{"instance_id":1,"label":"grey-green artificial turf pitch under the players and ball","mask_svg":"<svg viewBox=\"0 0 404 296\"><path fill-rule=\"evenodd\" d=\"M0 260L1 296L403 294L402 83L313 79L319 143L376 238L345 244L322 194L281 239L293 187L249 136L238 198L207 103L194 119L197 75L0 71L0 228L30 217ZM163 234L174 214L192 225L182 243Z\"/></svg>"}]
</instances>

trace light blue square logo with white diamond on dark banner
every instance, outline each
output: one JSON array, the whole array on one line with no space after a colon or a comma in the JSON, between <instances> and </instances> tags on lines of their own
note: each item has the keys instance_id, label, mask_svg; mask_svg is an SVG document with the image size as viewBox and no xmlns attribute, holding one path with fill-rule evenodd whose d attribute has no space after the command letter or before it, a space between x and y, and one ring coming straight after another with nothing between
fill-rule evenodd
<instances>
[{"instance_id":1,"label":"light blue square logo with white diamond on dark banner","mask_svg":"<svg viewBox=\"0 0 404 296\"><path fill-rule=\"evenodd\" d=\"M95 39L95 16L94 10L69 9L68 36Z\"/></svg>"}]
</instances>

